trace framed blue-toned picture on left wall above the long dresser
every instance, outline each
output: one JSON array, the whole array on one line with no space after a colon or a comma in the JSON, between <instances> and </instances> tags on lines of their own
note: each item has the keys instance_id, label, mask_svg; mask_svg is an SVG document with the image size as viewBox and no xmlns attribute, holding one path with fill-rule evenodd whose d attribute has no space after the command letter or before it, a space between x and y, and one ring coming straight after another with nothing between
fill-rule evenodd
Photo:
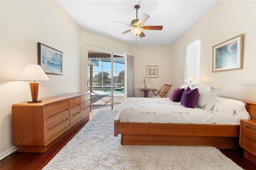
<instances>
[{"instance_id":1,"label":"framed blue-toned picture on left wall above the long dresser","mask_svg":"<svg viewBox=\"0 0 256 170\"><path fill-rule=\"evenodd\" d=\"M63 75L63 53L38 42L38 65L47 74Z\"/></svg>"}]
</instances>

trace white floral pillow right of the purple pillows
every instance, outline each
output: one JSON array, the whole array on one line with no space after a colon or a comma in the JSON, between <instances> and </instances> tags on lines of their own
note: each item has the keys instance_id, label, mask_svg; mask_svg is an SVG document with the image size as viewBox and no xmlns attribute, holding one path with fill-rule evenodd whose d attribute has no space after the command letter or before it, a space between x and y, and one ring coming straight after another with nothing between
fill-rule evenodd
<instances>
[{"instance_id":1,"label":"white floral pillow right of the purple pillows","mask_svg":"<svg viewBox=\"0 0 256 170\"><path fill-rule=\"evenodd\" d=\"M203 86L203 85L196 85L194 89L198 88L199 97L196 105L205 111L209 111L212 109L215 98L218 95L221 85L218 86Z\"/></svg>"}]
</instances>

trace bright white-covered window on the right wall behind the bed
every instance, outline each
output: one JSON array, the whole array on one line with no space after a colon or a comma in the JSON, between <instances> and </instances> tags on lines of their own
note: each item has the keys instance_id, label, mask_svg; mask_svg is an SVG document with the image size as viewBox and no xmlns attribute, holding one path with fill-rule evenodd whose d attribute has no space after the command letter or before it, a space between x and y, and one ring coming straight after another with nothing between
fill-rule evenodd
<instances>
[{"instance_id":1,"label":"bright white-covered window on the right wall behind the bed","mask_svg":"<svg viewBox=\"0 0 256 170\"><path fill-rule=\"evenodd\" d=\"M196 39L194 42L187 46L186 63L185 63L185 79L192 76L196 81L193 83L200 83L200 62L201 62L201 38ZM184 80L185 80L184 79ZM187 82L190 84L190 82Z\"/></svg>"}]
</instances>

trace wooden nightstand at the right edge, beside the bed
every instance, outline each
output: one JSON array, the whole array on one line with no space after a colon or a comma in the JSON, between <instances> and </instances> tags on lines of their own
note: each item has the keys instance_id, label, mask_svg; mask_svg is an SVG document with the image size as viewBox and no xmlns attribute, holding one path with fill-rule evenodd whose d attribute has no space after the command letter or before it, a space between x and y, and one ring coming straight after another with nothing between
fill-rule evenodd
<instances>
[{"instance_id":1,"label":"wooden nightstand at the right edge, beside the bed","mask_svg":"<svg viewBox=\"0 0 256 170\"><path fill-rule=\"evenodd\" d=\"M239 144L244 149L244 158L256 164L256 120L241 120Z\"/></svg>"}]
</instances>

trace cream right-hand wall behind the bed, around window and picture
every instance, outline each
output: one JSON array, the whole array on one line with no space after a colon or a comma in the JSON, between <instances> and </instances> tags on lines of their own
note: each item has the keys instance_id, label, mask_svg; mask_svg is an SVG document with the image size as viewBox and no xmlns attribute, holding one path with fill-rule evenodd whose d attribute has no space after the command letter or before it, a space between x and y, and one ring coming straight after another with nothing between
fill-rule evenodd
<instances>
[{"instance_id":1,"label":"cream right-hand wall behind the bed, around window and picture","mask_svg":"<svg viewBox=\"0 0 256 170\"><path fill-rule=\"evenodd\" d=\"M219 95L256 101L256 1L221 0L171 45L171 82L184 83L186 46L201 37L201 84L219 85ZM243 69L212 73L212 47L244 34Z\"/></svg>"}]
</instances>

